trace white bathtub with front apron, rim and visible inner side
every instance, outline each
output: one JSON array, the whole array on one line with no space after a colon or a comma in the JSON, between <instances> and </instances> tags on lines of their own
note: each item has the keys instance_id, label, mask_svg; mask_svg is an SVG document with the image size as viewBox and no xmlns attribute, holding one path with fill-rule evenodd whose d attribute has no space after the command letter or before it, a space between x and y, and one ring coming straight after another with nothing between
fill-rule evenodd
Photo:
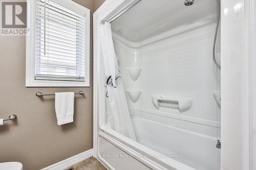
<instances>
[{"instance_id":1,"label":"white bathtub with front apron, rim and visible inner side","mask_svg":"<svg viewBox=\"0 0 256 170\"><path fill-rule=\"evenodd\" d=\"M220 169L216 137L143 117L132 122L137 142L107 126L99 132L99 160L110 169Z\"/></svg>"}]
</instances>

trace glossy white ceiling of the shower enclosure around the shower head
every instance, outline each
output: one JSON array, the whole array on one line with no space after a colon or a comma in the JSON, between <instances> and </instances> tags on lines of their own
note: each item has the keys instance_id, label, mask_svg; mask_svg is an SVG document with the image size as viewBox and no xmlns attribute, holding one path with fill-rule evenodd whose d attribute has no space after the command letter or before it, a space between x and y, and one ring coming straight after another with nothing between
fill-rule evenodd
<instances>
[{"instance_id":1,"label":"glossy white ceiling of the shower enclosure around the shower head","mask_svg":"<svg viewBox=\"0 0 256 170\"><path fill-rule=\"evenodd\" d=\"M131 42L141 42L177 28L206 25L217 20L217 0L142 0L112 22L112 31Z\"/></svg>"}]
</instances>

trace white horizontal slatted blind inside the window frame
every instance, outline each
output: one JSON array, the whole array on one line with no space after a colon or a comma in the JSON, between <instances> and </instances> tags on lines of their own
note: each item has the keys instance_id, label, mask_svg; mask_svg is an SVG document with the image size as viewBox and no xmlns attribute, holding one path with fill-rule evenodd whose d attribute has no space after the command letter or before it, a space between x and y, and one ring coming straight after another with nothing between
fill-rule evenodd
<instances>
[{"instance_id":1,"label":"white horizontal slatted blind inside the window frame","mask_svg":"<svg viewBox=\"0 0 256 170\"><path fill-rule=\"evenodd\" d=\"M84 81L85 22L51 0L36 0L36 80Z\"/></svg>"}]
</instances>

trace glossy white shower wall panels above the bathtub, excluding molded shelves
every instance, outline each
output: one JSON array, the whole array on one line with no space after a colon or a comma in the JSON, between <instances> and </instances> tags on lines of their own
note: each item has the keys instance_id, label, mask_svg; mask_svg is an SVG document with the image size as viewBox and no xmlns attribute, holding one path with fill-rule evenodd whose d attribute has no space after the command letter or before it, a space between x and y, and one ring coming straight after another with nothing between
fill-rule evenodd
<instances>
[{"instance_id":1,"label":"glossy white shower wall panels above the bathtub, excluding molded shelves","mask_svg":"<svg viewBox=\"0 0 256 170\"><path fill-rule=\"evenodd\" d=\"M180 33L142 48L132 48L114 37L115 51L125 89L142 89L141 104L130 108L156 110L153 95L193 99L193 106L182 114L220 124L220 112L213 92L220 90L220 71L212 62L215 23ZM137 81L125 70L133 65L142 68ZM129 98L127 98L129 101ZM160 111L179 114L177 109ZM217 114L218 112L218 114Z\"/></svg>"}]
</instances>

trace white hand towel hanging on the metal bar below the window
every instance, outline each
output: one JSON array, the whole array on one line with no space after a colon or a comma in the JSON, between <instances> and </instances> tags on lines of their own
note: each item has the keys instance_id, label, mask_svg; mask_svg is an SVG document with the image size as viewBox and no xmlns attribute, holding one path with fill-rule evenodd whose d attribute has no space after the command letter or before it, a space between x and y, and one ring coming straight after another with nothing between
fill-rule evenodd
<instances>
[{"instance_id":1,"label":"white hand towel hanging on the metal bar below the window","mask_svg":"<svg viewBox=\"0 0 256 170\"><path fill-rule=\"evenodd\" d=\"M55 93L55 112L58 125L73 122L74 92Z\"/></svg>"}]
</instances>

